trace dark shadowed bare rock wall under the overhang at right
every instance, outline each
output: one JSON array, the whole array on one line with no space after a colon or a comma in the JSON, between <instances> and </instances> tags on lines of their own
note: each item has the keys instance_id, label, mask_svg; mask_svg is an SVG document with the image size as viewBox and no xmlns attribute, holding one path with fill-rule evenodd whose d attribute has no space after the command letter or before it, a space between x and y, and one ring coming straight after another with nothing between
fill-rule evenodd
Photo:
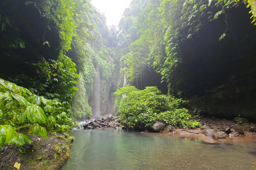
<instances>
[{"instance_id":1,"label":"dark shadowed bare rock wall under the overhang at right","mask_svg":"<svg viewBox=\"0 0 256 170\"><path fill-rule=\"evenodd\" d=\"M185 91L192 106L206 115L256 121L256 26L248 12L243 5L226 11L228 27L222 14L182 45L183 63L172 78L174 94Z\"/></svg>"}]
</instances>

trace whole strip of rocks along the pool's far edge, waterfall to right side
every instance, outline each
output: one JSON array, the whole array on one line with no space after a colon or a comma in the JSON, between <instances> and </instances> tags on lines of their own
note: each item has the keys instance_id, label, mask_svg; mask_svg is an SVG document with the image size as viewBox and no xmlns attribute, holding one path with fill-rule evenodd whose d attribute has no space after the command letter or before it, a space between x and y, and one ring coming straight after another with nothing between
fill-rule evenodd
<instances>
[{"instance_id":1,"label":"whole strip of rocks along the pool's far edge, waterfall to right side","mask_svg":"<svg viewBox=\"0 0 256 170\"><path fill-rule=\"evenodd\" d=\"M147 129L131 129L122 125L119 117L107 115L86 120L83 122L83 128L115 128L142 131L142 133L162 132L168 135L178 135L181 138L196 139L206 143L218 143L219 139L256 135L256 125L240 117L236 117L233 121L214 117L201 117L200 124L202 125L201 128L180 129L177 126L169 125L164 120L158 120Z\"/></svg>"}]
</instances>

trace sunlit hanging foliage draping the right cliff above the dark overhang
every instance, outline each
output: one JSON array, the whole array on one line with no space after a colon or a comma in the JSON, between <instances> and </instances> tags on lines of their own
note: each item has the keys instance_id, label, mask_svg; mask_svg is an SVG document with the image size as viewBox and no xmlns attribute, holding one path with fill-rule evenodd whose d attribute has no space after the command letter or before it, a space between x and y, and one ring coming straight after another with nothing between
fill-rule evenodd
<instances>
[{"instance_id":1,"label":"sunlit hanging foliage draping the right cliff above the dark overhang","mask_svg":"<svg viewBox=\"0 0 256 170\"><path fill-rule=\"evenodd\" d=\"M172 73L186 60L182 54L183 46L189 39L197 37L197 33L207 22L223 15L226 18L223 21L226 28L219 35L219 40L225 38L229 27L228 11L243 4L251 7L252 23L255 22L255 1L153 0L145 1L143 4L140 1L132 1L131 7L125 10L119 23L121 35L127 37L122 43L130 47L129 51L121 53L123 55L121 62L125 64L124 67L128 67L127 81L138 84L140 80L142 84L142 77L155 67L156 71L161 73L162 80L169 84L169 92L171 92L171 86L175 84L171 83ZM133 12L138 6L140 11ZM133 39L130 38L134 35L132 30L138 32ZM130 42L127 42L127 39ZM137 86L137 88L141 87Z\"/></svg>"}]
</instances>

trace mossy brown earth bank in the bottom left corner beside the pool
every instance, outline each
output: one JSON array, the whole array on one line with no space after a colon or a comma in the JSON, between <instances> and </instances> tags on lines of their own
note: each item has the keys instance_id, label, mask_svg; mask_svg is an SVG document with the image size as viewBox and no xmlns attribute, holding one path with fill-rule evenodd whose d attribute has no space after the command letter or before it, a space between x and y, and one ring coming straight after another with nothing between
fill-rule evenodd
<instances>
[{"instance_id":1,"label":"mossy brown earth bank in the bottom left corner beside the pool","mask_svg":"<svg viewBox=\"0 0 256 170\"><path fill-rule=\"evenodd\" d=\"M67 134L47 133L46 139L36 135L29 137L31 143L20 147L4 145L0 149L0 169L59 169L70 156ZM15 163L19 163L20 168L15 168Z\"/></svg>"}]
</instances>

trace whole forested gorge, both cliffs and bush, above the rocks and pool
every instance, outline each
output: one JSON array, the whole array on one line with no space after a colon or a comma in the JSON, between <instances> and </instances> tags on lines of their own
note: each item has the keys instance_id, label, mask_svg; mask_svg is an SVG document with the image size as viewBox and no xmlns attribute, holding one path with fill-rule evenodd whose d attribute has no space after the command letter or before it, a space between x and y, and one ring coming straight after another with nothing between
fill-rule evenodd
<instances>
[{"instance_id":1,"label":"whole forested gorge, both cliffs and bush, above the rocks and pool","mask_svg":"<svg viewBox=\"0 0 256 170\"><path fill-rule=\"evenodd\" d=\"M256 121L255 11L253 0L133 0L108 28L87 0L1 1L0 146L96 112L139 127Z\"/></svg>"}]
</instances>

